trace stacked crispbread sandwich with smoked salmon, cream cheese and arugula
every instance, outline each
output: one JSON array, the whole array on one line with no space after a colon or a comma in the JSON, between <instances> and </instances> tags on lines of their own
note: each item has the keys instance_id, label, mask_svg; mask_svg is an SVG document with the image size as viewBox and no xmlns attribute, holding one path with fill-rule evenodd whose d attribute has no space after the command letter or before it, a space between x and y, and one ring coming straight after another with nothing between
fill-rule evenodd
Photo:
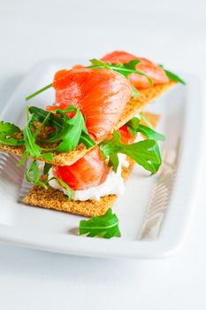
<instances>
[{"instance_id":1,"label":"stacked crispbread sandwich with smoked salmon, cream cheese and arugula","mask_svg":"<svg viewBox=\"0 0 206 310\"><path fill-rule=\"evenodd\" d=\"M159 115L142 110L177 82L184 83L124 51L58 71L26 98L53 87L54 104L27 107L24 128L0 122L0 151L19 156L19 166L29 159L26 178L34 187L23 202L85 216L106 213L134 163L151 174L160 167Z\"/></svg>"}]
</instances>

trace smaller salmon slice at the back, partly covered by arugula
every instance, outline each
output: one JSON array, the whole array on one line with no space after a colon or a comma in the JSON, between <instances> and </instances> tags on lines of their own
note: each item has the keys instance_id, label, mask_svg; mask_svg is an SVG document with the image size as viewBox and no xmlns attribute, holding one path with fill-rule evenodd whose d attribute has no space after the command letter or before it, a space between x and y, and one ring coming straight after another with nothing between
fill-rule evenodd
<instances>
[{"instance_id":1,"label":"smaller salmon slice at the back, partly covered by arugula","mask_svg":"<svg viewBox=\"0 0 206 310\"><path fill-rule=\"evenodd\" d=\"M119 62L124 65L131 60L140 60L141 62L136 65L136 70L141 71L143 74L147 74L153 81L153 85L164 84L169 82L169 78L164 72L164 69L157 66L146 58L136 57L133 54L129 54L126 51L115 50L110 54L105 55L101 60L114 65ZM149 80L146 76L140 74L130 74L129 81L136 89L147 89L150 87Z\"/></svg>"}]
</instances>

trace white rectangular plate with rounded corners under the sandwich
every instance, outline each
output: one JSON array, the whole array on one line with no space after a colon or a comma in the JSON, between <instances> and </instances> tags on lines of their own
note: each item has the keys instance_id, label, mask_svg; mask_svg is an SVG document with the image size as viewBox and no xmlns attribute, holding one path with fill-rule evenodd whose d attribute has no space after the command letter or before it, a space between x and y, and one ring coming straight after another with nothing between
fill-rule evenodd
<instances>
[{"instance_id":1,"label":"white rectangular plate with rounded corners under the sandwich","mask_svg":"<svg viewBox=\"0 0 206 310\"><path fill-rule=\"evenodd\" d=\"M49 89L28 103L24 98L49 84L57 69L77 63L82 63L81 59L56 59L36 66L19 85L0 119L23 126L26 105L51 105L54 90ZM125 195L118 198L113 208L118 215L122 237L106 240L77 236L80 216L20 204L21 180L14 166L10 167L13 177L5 178L2 174L0 182L0 240L44 251L108 258L163 258L176 252L187 235L195 207L204 133L201 84L191 75L182 75L187 80L186 87L177 85L149 107L149 111L162 115L157 129L167 136L164 151L177 151L178 148L174 185L156 239L139 239L144 214L156 184L155 175L148 176L139 167L134 168L126 183Z\"/></svg>"}]
</instances>

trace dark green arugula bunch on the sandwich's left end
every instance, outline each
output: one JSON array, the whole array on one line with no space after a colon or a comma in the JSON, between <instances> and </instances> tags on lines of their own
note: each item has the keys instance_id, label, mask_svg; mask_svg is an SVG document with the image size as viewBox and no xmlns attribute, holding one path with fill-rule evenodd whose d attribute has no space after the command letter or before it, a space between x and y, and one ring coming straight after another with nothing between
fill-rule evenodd
<instances>
[{"instance_id":1,"label":"dark green arugula bunch on the sandwich's left end","mask_svg":"<svg viewBox=\"0 0 206 310\"><path fill-rule=\"evenodd\" d=\"M74 112L72 118L67 115L70 112ZM36 122L41 123L38 128L35 127ZM50 127L52 130L49 130L48 135L42 138L39 134L44 127ZM34 161L26 169L27 181L40 185L45 189L48 186L48 181L42 180L36 160L53 161L51 151L68 152L74 150L80 142L84 143L87 148L95 145L95 142L88 135L84 116L72 104L65 110L57 108L50 112L34 106L28 108L27 124L23 132L14 124L0 121L0 143L12 146L24 145L25 151L18 163L18 167L22 166L28 158L34 158ZM47 143L49 147L45 149L42 146L43 143ZM45 164L44 174L47 174L49 169L50 164ZM65 187L68 198L71 198L72 190L70 187L60 179L57 179L57 182Z\"/></svg>"}]
</instances>

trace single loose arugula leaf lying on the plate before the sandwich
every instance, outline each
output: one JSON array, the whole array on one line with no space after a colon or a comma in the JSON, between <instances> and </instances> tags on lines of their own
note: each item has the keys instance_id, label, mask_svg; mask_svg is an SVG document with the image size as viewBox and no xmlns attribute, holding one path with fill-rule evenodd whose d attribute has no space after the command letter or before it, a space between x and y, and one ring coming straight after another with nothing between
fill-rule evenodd
<instances>
[{"instance_id":1,"label":"single loose arugula leaf lying on the plate before the sandwich","mask_svg":"<svg viewBox=\"0 0 206 310\"><path fill-rule=\"evenodd\" d=\"M118 217L112 213L111 208L101 216L92 217L88 221L80 221L79 234L86 236L100 236L110 239L121 236L118 228Z\"/></svg>"}]
</instances>

